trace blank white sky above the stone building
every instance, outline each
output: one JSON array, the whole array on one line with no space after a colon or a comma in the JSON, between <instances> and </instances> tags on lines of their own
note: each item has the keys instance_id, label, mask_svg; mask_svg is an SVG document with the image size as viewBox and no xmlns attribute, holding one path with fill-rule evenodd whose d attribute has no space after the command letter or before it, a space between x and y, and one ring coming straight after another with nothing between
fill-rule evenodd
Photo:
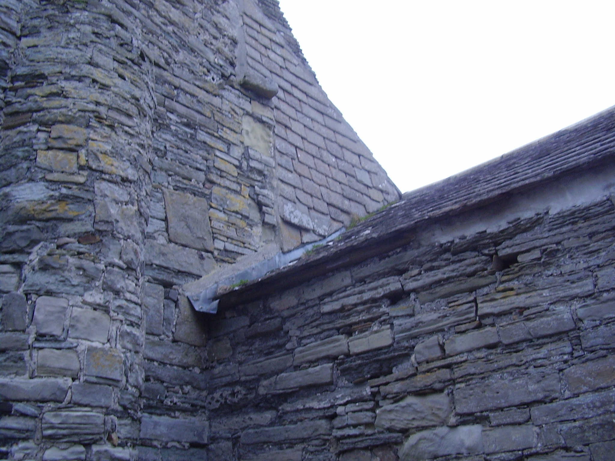
<instances>
[{"instance_id":1,"label":"blank white sky above the stone building","mask_svg":"<svg viewBox=\"0 0 615 461\"><path fill-rule=\"evenodd\" d=\"M280 0L402 192L615 104L615 2Z\"/></svg>"}]
</instances>

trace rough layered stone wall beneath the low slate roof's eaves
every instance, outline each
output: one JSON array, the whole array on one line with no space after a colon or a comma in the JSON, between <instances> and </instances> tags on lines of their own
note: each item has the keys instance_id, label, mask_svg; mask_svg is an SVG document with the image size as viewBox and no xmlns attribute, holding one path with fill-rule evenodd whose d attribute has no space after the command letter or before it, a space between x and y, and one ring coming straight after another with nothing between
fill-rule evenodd
<instances>
[{"instance_id":1,"label":"rough layered stone wall beneath the low slate roof's eaves","mask_svg":"<svg viewBox=\"0 0 615 461\"><path fill-rule=\"evenodd\" d=\"M208 322L212 441L263 461L613 459L614 173L444 213L393 251L226 302Z\"/></svg>"}]
</instances>

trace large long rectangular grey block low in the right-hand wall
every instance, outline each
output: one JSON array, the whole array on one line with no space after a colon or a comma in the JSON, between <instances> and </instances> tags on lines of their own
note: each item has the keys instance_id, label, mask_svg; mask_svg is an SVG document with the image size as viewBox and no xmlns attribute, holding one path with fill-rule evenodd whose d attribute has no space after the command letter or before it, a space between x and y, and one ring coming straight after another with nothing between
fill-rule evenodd
<instances>
[{"instance_id":1,"label":"large long rectangular grey block low in the right-hand wall","mask_svg":"<svg viewBox=\"0 0 615 461\"><path fill-rule=\"evenodd\" d=\"M455 409L459 414L552 400L559 396L560 378L551 371L534 371L534 374L514 379L492 377L454 390Z\"/></svg>"}]
</instances>

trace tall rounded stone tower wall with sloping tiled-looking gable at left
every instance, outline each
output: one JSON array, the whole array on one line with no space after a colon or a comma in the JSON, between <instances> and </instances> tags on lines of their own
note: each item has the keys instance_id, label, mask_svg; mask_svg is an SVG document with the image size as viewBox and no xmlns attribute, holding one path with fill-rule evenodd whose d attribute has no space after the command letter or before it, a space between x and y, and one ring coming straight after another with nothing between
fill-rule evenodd
<instances>
[{"instance_id":1,"label":"tall rounded stone tower wall with sloping tiled-looking gable at left","mask_svg":"<svg viewBox=\"0 0 615 461\"><path fill-rule=\"evenodd\" d=\"M0 458L224 459L182 285L399 191L276 2L1 0L0 45Z\"/></svg>"}]
</instances>

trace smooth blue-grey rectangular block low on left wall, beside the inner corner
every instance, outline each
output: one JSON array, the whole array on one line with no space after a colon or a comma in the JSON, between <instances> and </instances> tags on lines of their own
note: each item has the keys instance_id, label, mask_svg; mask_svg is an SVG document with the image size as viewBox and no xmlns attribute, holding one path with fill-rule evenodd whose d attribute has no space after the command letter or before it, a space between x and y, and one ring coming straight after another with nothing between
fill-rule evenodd
<instances>
[{"instance_id":1,"label":"smooth blue-grey rectangular block low on left wall, beside the inner corner","mask_svg":"<svg viewBox=\"0 0 615 461\"><path fill-rule=\"evenodd\" d=\"M200 418L143 414L139 437L164 442L208 443L209 422Z\"/></svg>"}]
</instances>

